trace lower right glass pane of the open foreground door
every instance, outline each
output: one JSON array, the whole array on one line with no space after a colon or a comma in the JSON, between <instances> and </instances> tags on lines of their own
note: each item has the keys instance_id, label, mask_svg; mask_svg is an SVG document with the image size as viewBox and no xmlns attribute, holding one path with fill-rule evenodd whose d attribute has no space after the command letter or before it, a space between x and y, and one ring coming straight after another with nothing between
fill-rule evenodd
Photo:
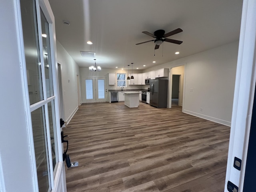
<instances>
[{"instance_id":1,"label":"lower right glass pane of the open foreground door","mask_svg":"<svg viewBox=\"0 0 256 192\"><path fill-rule=\"evenodd\" d=\"M49 126L50 126L50 136L51 136L51 148L52 148L52 170L56 166L56 156L58 156L58 146L57 146L57 136L56 136L56 122L55 122L55 110L54 110L54 100L48 103L48 115L49 115Z\"/></svg>"}]
</instances>

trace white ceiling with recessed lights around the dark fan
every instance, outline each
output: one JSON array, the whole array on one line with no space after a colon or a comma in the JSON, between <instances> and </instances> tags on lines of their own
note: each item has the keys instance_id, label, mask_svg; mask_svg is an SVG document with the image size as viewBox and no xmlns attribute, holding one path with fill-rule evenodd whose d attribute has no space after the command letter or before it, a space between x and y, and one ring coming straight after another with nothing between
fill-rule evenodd
<instances>
[{"instance_id":1,"label":"white ceiling with recessed lights around the dark fan","mask_svg":"<svg viewBox=\"0 0 256 192\"><path fill-rule=\"evenodd\" d=\"M242 0L49 0L56 38L80 67L94 65L80 51L96 52L102 68L146 69L239 39ZM64 25L63 21L70 22ZM183 32L155 51L142 31ZM90 40L92 45L86 44ZM180 54L174 54L176 51ZM156 63L152 63L156 61ZM146 65L146 67L143 67Z\"/></svg>"}]
</instances>

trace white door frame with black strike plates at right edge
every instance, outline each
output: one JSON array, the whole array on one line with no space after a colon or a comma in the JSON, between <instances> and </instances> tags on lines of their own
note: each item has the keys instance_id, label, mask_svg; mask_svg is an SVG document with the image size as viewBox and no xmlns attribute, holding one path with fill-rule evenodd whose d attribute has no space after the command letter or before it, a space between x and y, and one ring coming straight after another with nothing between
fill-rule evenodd
<instances>
[{"instance_id":1,"label":"white door frame with black strike plates at right edge","mask_svg":"<svg viewBox=\"0 0 256 192\"><path fill-rule=\"evenodd\" d=\"M256 1L244 0L240 29L236 84L230 130L230 143L225 180L242 192L246 168L252 107L256 83ZM242 160L241 170L234 168L234 157Z\"/></svg>"}]
</instances>

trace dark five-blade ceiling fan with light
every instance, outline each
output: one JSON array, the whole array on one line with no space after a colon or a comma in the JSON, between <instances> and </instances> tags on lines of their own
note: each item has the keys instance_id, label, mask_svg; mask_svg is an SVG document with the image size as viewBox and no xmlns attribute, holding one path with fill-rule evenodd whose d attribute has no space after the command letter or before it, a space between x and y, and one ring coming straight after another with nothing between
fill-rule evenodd
<instances>
[{"instance_id":1,"label":"dark five-blade ceiling fan with light","mask_svg":"<svg viewBox=\"0 0 256 192\"><path fill-rule=\"evenodd\" d=\"M175 29L171 32L168 32L166 34L164 30L160 29L160 30L156 30L154 32L154 34L151 34L150 32L147 32L147 31L142 31L142 33L146 34L146 35L149 35L153 38L156 38L155 40L149 40L149 41L145 41L145 42L142 42L142 43L137 43L136 45L140 45L140 44L143 44L143 43L147 43L147 42L151 42L151 41L154 41L156 46L155 46L155 49L158 49L159 48L159 45L162 44L162 42L166 41L166 42L170 42L170 43L175 43L175 44L182 44L182 41L178 41L178 40L174 40L174 39L168 39L166 37L169 37L169 36L172 36L174 34L177 34L177 33L180 33L182 32L183 30L178 28L178 29ZM164 38L164 39L163 39Z\"/></svg>"}]
</instances>

